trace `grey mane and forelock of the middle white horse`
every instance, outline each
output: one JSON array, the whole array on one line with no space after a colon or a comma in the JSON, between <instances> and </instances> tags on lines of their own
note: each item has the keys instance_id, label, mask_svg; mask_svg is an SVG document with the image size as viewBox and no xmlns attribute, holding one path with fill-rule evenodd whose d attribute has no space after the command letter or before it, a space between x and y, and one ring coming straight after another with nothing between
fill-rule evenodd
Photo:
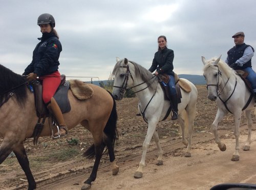
<instances>
[{"instance_id":1,"label":"grey mane and forelock of the middle white horse","mask_svg":"<svg viewBox=\"0 0 256 190\"><path fill-rule=\"evenodd\" d=\"M120 64L123 60L120 60L116 63L114 69L113 69L113 75L116 75L118 69L120 68ZM130 61L129 62L131 64L134 65L135 67L135 76L136 77L140 77L144 82L146 82L147 86L149 89L153 89L155 85L157 85L158 83L158 78L155 77L154 79L152 78L154 75L147 69L145 69L144 67L142 67L141 65L139 65L138 63L134 62L134 61ZM154 86L152 85L154 84ZM154 90L154 89L153 89Z\"/></svg>"}]
</instances>

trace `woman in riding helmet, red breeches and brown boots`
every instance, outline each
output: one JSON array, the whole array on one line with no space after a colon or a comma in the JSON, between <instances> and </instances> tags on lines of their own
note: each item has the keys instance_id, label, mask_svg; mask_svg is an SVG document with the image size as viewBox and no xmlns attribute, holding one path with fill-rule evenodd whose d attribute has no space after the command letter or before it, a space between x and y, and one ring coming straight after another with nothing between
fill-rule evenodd
<instances>
[{"instance_id":1,"label":"woman in riding helmet, red breeches and brown boots","mask_svg":"<svg viewBox=\"0 0 256 190\"><path fill-rule=\"evenodd\" d=\"M23 75L27 75L29 81L35 80L37 77L42 80L42 99L48 104L49 111L53 113L57 120L59 132L56 132L54 137L58 138L68 133L63 115L53 97L60 85L58 59L62 47L54 29L55 20L51 14L41 14L37 19L37 25L40 27L42 37L38 38L40 42L33 51L32 62L25 69Z\"/></svg>"}]
</instances>

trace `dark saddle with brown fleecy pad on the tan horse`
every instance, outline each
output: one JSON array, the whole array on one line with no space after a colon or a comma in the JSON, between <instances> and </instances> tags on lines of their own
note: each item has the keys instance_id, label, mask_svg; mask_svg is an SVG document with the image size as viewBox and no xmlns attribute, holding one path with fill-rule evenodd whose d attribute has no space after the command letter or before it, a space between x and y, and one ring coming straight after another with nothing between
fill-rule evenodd
<instances>
[{"instance_id":1,"label":"dark saddle with brown fleecy pad on the tan horse","mask_svg":"<svg viewBox=\"0 0 256 190\"><path fill-rule=\"evenodd\" d=\"M38 121L35 125L33 134L33 143L36 145L42 128L45 125L45 120L49 117L49 124L51 126L56 125L56 119L48 111L47 105L42 100L42 85L40 80L35 80L29 84L29 89L34 93L36 115ZM70 101L68 98L68 91L71 89L72 94L79 100L85 100L93 96L93 89L86 83L80 80L66 80L65 75L61 75L60 85L54 94L54 99L58 103L60 110L63 113L68 113L71 110ZM50 121L51 120L51 121Z\"/></svg>"}]
</instances>

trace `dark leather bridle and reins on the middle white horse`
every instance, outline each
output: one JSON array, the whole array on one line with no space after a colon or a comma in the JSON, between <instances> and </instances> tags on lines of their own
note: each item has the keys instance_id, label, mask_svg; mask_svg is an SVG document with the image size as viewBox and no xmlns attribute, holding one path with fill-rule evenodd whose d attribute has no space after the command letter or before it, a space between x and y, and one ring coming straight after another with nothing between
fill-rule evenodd
<instances>
[{"instance_id":1,"label":"dark leather bridle and reins on the middle white horse","mask_svg":"<svg viewBox=\"0 0 256 190\"><path fill-rule=\"evenodd\" d=\"M120 90L119 90L119 94L120 94L121 96L124 95L124 91L131 90L131 89L133 89L133 88L135 88L135 87L138 87L138 86L140 86L140 85L142 85L142 84L145 84L145 83L147 83L148 81L150 81L151 79L153 79L154 77L156 77L156 75L154 75L153 77L151 77L150 79L148 79L146 82L140 83L140 84L138 84L138 85L136 85L136 86L133 86L133 87L130 87L130 88L127 88L127 83L128 83L128 80L129 80L129 76L131 76L131 78L132 78L132 80L133 80L133 82L134 82L133 75L132 75L132 73L131 73L131 71L130 71L130 69L129 69L129 65L127 65L127 66L120 66L120 68L126 68L125 78L124 78L124 80L123 80L123 83L122 83L122 86L121 86L121 87L118 87L118 86L113 86L113 87L120 89ZM145 90L146 88L150 87L151 84L152 84L152 83L150 83L150 84L147 85L145 88L143 88L143 89L141 89L141 90L139 90L139 91L133 92L132 94L135 94L135 93L138 93L138 92L140 92L140 91L142 91L142 90Z\"/></svg>"}]
</instances>

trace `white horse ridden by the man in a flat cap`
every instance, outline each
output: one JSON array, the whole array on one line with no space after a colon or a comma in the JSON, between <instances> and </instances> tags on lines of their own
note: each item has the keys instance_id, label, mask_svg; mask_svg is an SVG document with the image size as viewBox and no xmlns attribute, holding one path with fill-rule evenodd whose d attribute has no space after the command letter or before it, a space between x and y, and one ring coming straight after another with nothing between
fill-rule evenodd
<instances>
[{"instance_id":1,"label":"white horse ridden by the man in a flat cap","mask_svg":"<svg viewBox=\"0 0 256 190\"><path fill-rule=\"evenodd\" d=\"M248 137L244 150L250 149L251 143L251 111L253 110L254 98L248 88L245 86L242 78L237 72L231 69L225 62L219 58L205 60L202 57L204 64L204 77L208 89L208 98L212 101L217 101L218 111L214 122L211 124L212 131L215 135L215 142L221 151L226 150L226 145L221 142L217 127L218 123L230 112L234 116L234 136L236 137L236 149L232 155L232 161L238 161L239 156L239 126L241 121L242 111L245 110L248 125Z\"/></svg>"}]
</instances>

